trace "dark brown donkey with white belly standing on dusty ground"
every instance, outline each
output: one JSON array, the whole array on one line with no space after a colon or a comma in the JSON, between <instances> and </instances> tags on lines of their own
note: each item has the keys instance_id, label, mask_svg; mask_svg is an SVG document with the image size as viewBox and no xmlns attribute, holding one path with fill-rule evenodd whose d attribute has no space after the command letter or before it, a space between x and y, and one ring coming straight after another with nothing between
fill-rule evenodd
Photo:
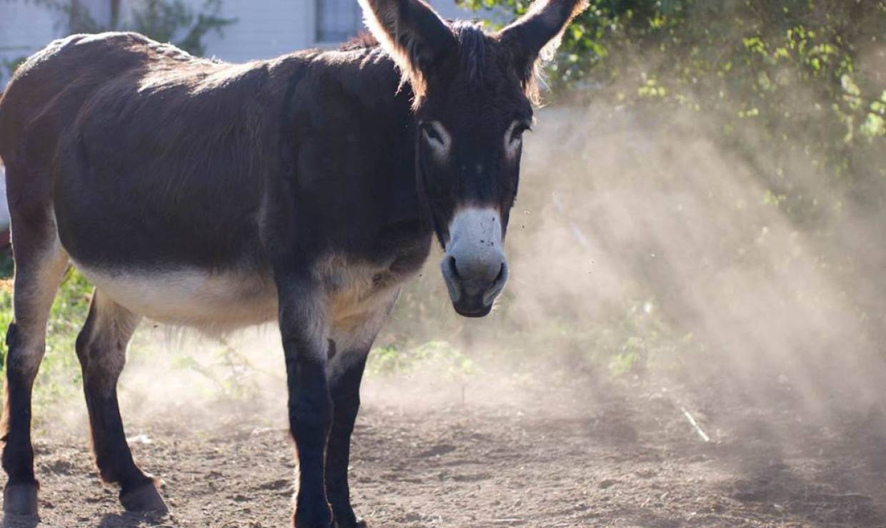
<instances>
[{"instance_id":1,"label":"dark brown donkey with white belly standing on dusty ground","mask_svg":"<svg viewBox=\"0 0 886 528\"><path fill-rule=\"evenodd\" d=\"M436 235L455 311L508 278L535 70L584 0L495 33L422 0L361 0L374 42L230 65L139 34L78 34L0 101L17 264L4 511L35 514L31 390L69 264L95 286L76 341L101 477L165 511L116 384L141 318L225 333L276 320L299 462L292 523L360 525L347 466L369 348Z\"/></svg>"}]
</instances>

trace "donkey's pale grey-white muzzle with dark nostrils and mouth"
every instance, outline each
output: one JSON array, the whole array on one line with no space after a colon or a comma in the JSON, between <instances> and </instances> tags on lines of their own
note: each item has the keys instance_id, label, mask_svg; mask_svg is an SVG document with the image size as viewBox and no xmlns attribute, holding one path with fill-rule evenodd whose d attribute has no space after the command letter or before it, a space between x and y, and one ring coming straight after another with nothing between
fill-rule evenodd
<instances>
[{"instance_id":1,"label":"donkey's pale grey-white muzzle with dark nostrils and mouth","mask_svg":"<svg viewBox=\"0 0 886 528\"><path fill-rule=\"evenodd\" d=\"M489 209L460 210L449 236L440 271L453 308L464 317L482 318L508 280L499 215Z\"/></svg>"}]
</instances>

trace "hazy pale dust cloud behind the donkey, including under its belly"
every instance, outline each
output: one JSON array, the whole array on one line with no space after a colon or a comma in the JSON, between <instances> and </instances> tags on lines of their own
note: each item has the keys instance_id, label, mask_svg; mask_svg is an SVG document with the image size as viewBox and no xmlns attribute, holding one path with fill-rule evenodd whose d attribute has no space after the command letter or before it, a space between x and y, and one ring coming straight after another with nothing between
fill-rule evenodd
<instances>
[{"instance_id":1,"label":"hazy pale dust cloud behind the donkey, including under its belly","mask_svg":"<svg viewBox=\"0 0 886 528\"><path fill-rule=\"evenodd\" d=\"M531 405L539 393L526 386L563 384L590 402L595 380L640 379L696 394L690 405L719 394L736 408L789 398L820 419L881 413L882 214L856 210L802 159L724 148L719 124L697 112L666 118L603 104L540 110L496 310L458 318L433 252L373 353L415 360L370 362L364 402ZM793 193L826 204L812 227L758 177L776 165L805 186ZM442 360L410 356L429 341ZM175 410L211 426L247 412L285 425L275 327L218 343L145 324L131 348L124 416Z\"/></svg>"}]
</instances>

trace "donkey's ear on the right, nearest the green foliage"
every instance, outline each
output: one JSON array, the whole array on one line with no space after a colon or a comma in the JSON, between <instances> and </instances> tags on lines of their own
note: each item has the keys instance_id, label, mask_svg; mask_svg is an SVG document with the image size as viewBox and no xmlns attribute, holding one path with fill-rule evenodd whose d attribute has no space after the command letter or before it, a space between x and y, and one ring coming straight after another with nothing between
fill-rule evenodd
<instances>
[{"instance_id":1,"label":"donkey's ear on the right, nearest the green foliage","mask_svg":"<svg viewBox=\"0 0 886 528\"><path fill-rule=\"evenodd\" d=\"M499 32L525 83L532 82L535 61L553 57L566 26L585 8L587 0L535 0L523 17Z\"/></svg>"}]
</instances>

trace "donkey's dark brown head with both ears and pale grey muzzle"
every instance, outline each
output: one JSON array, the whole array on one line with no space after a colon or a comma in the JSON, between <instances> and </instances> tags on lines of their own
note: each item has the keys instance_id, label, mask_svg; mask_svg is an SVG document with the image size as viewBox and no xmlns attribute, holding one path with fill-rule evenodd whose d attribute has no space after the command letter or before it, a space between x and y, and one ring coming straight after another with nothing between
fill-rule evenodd
<instances>
[{"instance_id":1,"label":"donkey's dark brown head with both ears and pale grey muzzle","mask_svg":"<svg viewBox=\"0 0 886 528\"><path fill-rule=\"evenodd\" d=\"M440 244L453 306L482 317L508 278L502 241L517 195L535 68L586 0L536 0L487 34L422 0L361 0L367 24L415 96L418 194Z\"/></svg>"}]
</instances>

